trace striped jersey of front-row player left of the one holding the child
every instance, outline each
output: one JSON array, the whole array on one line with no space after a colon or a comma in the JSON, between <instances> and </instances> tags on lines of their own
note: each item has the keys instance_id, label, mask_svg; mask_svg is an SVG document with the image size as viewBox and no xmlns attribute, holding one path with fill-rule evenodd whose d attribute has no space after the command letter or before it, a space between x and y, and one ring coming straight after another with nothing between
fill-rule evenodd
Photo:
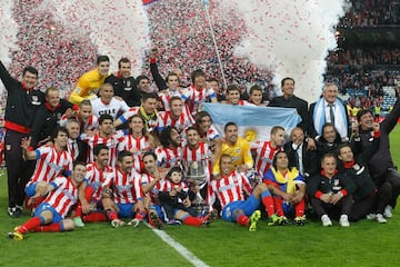
<instances>
[{"instance_id":1,"label":"striped jersey of front-row player left of the one holding the child","mask_svg":"<svg viewBox=\"0 0 400 267\"><path fill-rule=\"evenodd\" d=\"M116 204L136 204L144 195L141 189L141 175L132 169L129 174L122 174L116 168L113 175L113 200Z\"/></svg>"}]
</instances>

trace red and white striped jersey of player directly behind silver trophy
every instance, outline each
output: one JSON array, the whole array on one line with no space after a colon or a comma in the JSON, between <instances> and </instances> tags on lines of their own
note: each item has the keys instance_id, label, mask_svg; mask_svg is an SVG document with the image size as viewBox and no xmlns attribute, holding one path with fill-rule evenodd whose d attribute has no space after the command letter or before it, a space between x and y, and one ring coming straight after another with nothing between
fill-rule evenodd
<instances>
[{"instance_id":1,"label":"red and white striped jersey of player directly behind silver trophy","mask_svg":"<svg viewBox=\"0 0 400 267\"><path fill-rule=\"evenodd\" d=\"M194 149L184 146L182 149L182 166L184 177L190 184L201 185L211 179L211 150L206 142L199 142Z\"/></svg>"}]
</instances>

